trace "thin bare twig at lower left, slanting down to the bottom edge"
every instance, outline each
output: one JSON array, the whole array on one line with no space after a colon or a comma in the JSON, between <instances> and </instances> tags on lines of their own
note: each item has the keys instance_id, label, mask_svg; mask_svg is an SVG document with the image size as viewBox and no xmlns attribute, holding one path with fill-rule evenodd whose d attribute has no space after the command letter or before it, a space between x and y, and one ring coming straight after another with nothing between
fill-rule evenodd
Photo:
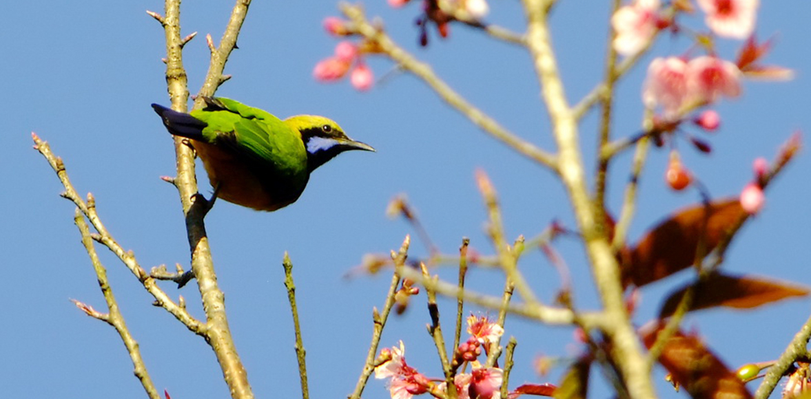
<instances>
[{"instance_id":1,"label":"thin bare twig at lower left, slanting down to the bottom edge","mask_svg":"<svg viewBox=\"0 0 811 399\"><path fill-rule=\"evenodd\" d=\"M104 295L107 308L109 309L109 314L102 320L112 325L116 332L118 332L118 336L121 337L124 346L127 347L127 353L130 354L132 365L135 367L133 372L135 376L138 377L138 380L141 381L141 385L144 386L147 395L150 399L160 399L161 394L157 392L155 384L152 383L152 378L149 377L144 358L141 357L138 342L135 342L135 338L132 337L130 330L127 329L124 316L122 316L121 311L118 309L118 302L115 299L115 295L113 295L113 288L109 287L109 282L107 281L107 270L104 265L101 264L98 254L96 253L96 248L93 247L93 240L90 238L88 223L85 222L83 214L78 209L74 216L74 222L76 223L76 227L79 227L79 233L82 236L82 244L84 244L84 249L88 252L93 270L96 271L96 278L99 282L101 293Z\"/></svg>"}]
</instances>

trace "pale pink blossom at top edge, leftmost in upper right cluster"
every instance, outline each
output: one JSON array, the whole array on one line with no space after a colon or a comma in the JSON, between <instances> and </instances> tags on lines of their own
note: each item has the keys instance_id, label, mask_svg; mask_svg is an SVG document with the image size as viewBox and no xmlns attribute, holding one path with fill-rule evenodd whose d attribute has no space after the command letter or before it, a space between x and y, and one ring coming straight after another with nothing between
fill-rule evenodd
<instances>
[{"instance_id":1,"label":"pale pink blossom at top edge, leftmost in upper right cluster","mask_svg":"<svg viewBox=\"0 0 811 399\"><path fill-rule=\"evenodd\" d=\"M659 0L636 0L611 16L617 53L630 56L645 48L659 30Z\"/></svg>"}]
</instances>

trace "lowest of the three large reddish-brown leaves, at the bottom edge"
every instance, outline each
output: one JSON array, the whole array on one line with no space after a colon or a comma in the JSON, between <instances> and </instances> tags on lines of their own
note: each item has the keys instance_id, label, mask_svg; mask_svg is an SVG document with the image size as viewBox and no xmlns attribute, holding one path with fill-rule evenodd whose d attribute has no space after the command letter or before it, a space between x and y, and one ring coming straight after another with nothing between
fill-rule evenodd
<instances>
[{"instance_id":1,"label":"lowest of the three large reddish-brown leaves, at the bottom edge","mask_svg":"<svg viewBox=\"0 0 811 399\"><path fill-rule=\"evenodd\" d=\"M645 346L656 342L662 325L645 328L640 333ZM684 387L693 399L748 399L752 394L734 372L729 371L695 335L676 332L667 339L661 363L670 372L672 380Z\"/></svg>"}]
</instances>

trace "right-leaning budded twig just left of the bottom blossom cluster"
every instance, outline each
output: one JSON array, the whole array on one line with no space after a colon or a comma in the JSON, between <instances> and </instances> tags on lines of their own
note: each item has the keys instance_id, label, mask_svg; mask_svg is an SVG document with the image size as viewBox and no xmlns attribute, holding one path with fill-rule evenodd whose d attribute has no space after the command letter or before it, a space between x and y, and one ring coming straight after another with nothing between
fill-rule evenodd
<instances>
[{"instance_id":1,"label":"right-leaning budded twig just left of the bottom blossom cluster","mask_svg":"<svg viewBox=\"0 0 811 399\"><path fill-rule=\"evenodd\" d=\"M395 265L394 274L392 276L392 284L388 287L388 294L386 295L386 302L383 305L383 312L377 312L376 308L373 312L372 320L374 321L375 325L371 333L369 352L366 355L366 363L363 364L363 371L361 371L360 377L358 377L358 384L355 384L354 392L349 396L350 399L360 398L361 394L363 394L363 388L366 388L366 383L367 380L369 380L369 376L371 376L372 371L375 371L375 359L377 347L380 345L380 336L383 334L386 320L388 320L388 314L392 311L394 303L397 302L394 299L394 296L397 294L397 286L400 285L401 272L403 270L408 270L407 268L403 267L403 265L405 265L405 258L408 256L408 247L410 243L411 238L409 236L405 236L405 240L403 240L400 251L397 253L392 253L392 259Z\"/></svg>"}]
</instances>

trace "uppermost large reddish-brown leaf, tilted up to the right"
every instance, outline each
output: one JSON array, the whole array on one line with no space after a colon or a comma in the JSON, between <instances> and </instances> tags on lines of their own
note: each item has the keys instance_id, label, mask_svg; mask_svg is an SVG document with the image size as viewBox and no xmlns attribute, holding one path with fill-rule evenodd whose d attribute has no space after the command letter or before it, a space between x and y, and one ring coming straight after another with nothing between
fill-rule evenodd
<instances>
[{"instance_id":1,"label":"uppermost large reddish-brown leaf, tilted up to the right","mask_svg":"<svg viewBox=\"0 0 811 399\"><path fill-rule=\"evenodd\" d=\"M623 285L642 287L693 265L700 237L709 253L746 215L737 198L676 212L622 252Z\"/></svg>"}]
</instances>

